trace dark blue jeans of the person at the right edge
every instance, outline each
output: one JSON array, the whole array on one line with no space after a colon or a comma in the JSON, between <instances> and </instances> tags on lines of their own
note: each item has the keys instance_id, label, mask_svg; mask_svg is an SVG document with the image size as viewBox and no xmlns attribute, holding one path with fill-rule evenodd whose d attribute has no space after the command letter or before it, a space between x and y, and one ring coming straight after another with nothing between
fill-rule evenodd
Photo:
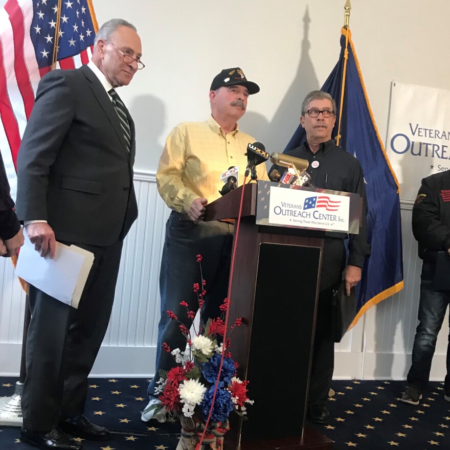
<instances>
[{"instance_id":1,"label":"dark blue jeans of the person at the right edge","mask_svg":"<svg viewBox=\"0 0 450 450\"><path fill-rule=\"evenodd\" d=\"M419 325L413 347L413 364L408 373L408 383L424 391L430 378L431 361L436 348L436 340L444 321L450 291L433 289L435 264L423 262L420 276ZM450 276L450 274L449 274ZM450 392L450 338L447 346L447 375L445 391Z\"/></svg>"}]
</instances>

